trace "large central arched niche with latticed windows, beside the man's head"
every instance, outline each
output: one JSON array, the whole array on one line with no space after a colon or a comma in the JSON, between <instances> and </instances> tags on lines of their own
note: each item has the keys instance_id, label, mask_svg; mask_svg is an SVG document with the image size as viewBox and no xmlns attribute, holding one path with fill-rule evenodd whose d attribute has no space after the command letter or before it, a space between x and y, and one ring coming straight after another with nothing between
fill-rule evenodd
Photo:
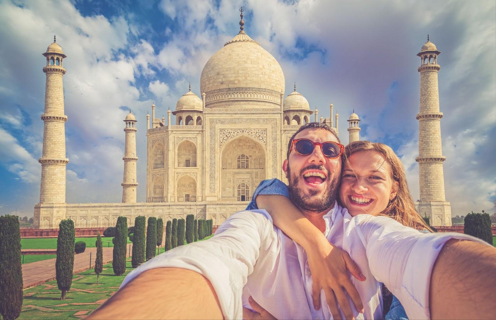
<instances>
[{"instance_id":1,"label":"large central arched niche with latticed windows, beside the man's head","mask_svg":"<svg viewBox=\"0 0 496 320\"><path fill-rule=\"evenodd\" d=\"M238 168L238 158L248 157L246 165ZM244 158L245 159L245 158ZM245 161L245 160L244 160ZM226 143L221 150L220 190L221 197L228 201L238 201L237 187L243 182L250 192L266 175L266 153L256 140L240 135Z\"/></svg>"}]
</instances>

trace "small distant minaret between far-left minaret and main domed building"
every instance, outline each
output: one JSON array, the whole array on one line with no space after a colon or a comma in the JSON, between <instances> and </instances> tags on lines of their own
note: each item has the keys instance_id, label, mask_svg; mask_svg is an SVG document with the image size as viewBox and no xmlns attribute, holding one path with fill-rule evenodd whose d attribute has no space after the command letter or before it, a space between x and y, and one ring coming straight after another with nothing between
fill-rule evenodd
<instances>
[{"instance_id":1,"label":"small distant minaret between far-left minaret and main domed building","mask_svg":"<svg viewBox=\"0 0 496 320\"><path fill-rule=\"evenodd\" d=\"M136 118L131 114L125 117L125 147L124 147L124 179L123 186L123 203L136 203Z\"/></svg>"}]
</instances>

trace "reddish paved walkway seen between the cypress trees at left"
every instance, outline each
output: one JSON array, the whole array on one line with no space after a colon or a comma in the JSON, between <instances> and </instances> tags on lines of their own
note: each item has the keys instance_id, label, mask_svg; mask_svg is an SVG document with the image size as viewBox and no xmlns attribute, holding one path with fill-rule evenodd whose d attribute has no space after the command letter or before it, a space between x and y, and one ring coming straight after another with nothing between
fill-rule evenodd
<instances>
[{"instance_id":1,"label":"reddish paved walkway seen between the cypress trees at left","mask_svg":"<svg viewBox=\"0 0 496 320\"><path fill-rule=\"evenodd\" d=\"M130 248L132 250L132 243ZM126 248L126 256L130 255L129 244ZM113 247L103 247L103 264L112 261ZM73 273L88 270L90 267L90 252L91 252L91 267L95 266L96 248L86 248L82 253L74 255L74 271ZM24 289L45 283L56 278L55 260L47 259L22 265L22 281Z\"/></svg>"}]
</instances>

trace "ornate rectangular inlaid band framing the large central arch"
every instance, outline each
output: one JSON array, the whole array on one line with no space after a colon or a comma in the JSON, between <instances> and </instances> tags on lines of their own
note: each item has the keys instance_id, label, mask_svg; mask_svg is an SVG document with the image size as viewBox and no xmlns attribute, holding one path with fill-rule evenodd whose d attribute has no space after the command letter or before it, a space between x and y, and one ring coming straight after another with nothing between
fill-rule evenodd
<instances>
[{"instance_id":1,"label":"ornate rectangular inlaid band framing the large central arch","mask_svg":"<svg viewBox=\"0 0 496 320\"><path fill-rule=\"evenodd\" d=\"M271 135L271 143L272 149L267 152L270 152L272 156L272 176L277 176L277 120L276 119L210 119L209 126L210 130L208 131L209 137L209 191L215 192L215 125L216 124L228 124L228 125L240 125L240 124L268 124L272 129Z\"/></svg>"}]
</instances>

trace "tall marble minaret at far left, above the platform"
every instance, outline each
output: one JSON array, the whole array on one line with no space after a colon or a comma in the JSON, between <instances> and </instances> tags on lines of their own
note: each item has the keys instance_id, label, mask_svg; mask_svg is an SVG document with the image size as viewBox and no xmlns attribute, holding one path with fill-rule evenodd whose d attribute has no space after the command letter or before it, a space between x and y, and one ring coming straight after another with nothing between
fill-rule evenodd
<instances>
[{"instance_id":1,"label":"tall marble minaret at far left, above the platform","mask_svg":"<svg viewBox=\"0 0 496 320\"><path fill-rule=\"evenodd\" d=\"M55 41L43 54L47 65L43 67L46 74L45 112L41 115L44 122L43 152L38 160L41 163L40 204L65 203L65 121L63 105L63 81L65 69L62 60L66 57L62 48Z\"/></svg>"}]
</instances>

